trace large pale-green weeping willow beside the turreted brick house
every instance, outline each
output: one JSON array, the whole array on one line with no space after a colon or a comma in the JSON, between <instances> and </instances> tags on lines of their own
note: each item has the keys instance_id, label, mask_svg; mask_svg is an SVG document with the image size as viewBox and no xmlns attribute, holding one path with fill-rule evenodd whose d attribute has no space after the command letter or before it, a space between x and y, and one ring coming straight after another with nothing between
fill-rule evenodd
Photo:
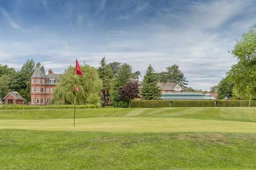
<instances>
[{"instance_id":1,"label":"large pale-green weeping willow beside the turreted brick house","mask_svg":"<svg viewBox=\"0 0 256 170\"><path fill-rule=\"evenodd\" d=\"M76 76L76 84L79 89L79 92L76 92L76 104L78 105L85 104L91 93L100 95L100 89L102 89L102 80L94 67L86 64L81 66L81 70L83 76ZM54 88L54 104L74 104L74 88L75 68L69 66Z\"/></svg>"}]
</instances>

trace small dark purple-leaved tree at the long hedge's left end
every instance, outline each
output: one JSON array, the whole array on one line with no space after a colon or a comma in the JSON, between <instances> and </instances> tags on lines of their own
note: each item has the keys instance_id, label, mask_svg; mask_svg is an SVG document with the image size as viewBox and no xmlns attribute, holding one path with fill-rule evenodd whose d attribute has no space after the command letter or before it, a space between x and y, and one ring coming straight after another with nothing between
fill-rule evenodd
<instances>
[{"instance_id":1,"label":"small dark purple-leaved tree at the long hedge's left end","mask_svg":"<svg viewBox=\"0 0 256 170\"><path fill-rule=\"evenodd\" d=\"M130 107L130 101L134 98L140 98L139 96L139 84L138 81L131 81L128 84L126 84L121 92L120 92L120 99L121 100L128 100L129 101L129 107Z\"/></svg>"}]
</instances>

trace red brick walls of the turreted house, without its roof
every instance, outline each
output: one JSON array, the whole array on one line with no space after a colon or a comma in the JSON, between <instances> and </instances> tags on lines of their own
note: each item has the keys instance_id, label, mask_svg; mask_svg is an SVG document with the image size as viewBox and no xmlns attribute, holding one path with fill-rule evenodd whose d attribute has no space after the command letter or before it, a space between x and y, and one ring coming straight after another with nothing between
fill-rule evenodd
<instances>
[{"instance_id":1,"label":"red brick walls of the turreted house, without its roof","mask_svg":"<svg viewBox=\"0 0 256 170\"><path fill-rule=\"evenodd\" d=\"M32 83L32 80L34 79L34 83ZM36 79L40 80L40 83L36 83ZM42 79L44 80L44 83L42 83ZM51 89L55 87L55 85L45 85L45 78L31 78L30 83L31 83L31 99L30 99L30 104L32 105L38 105L36 103L36 99L39 98L39 104L44 105L46 104L47 98L51 99L52 98L52 92ZM36 88L39 88L39 92L36 92ZM32 92L32 88L34 88L34 92ZM44 92L42 92L42 88L44 88ZM46 92L46 89L49 89L49 92ZM32 103L32 98L34 98L34 104ZM42 98L44 99L44 102L42 103Z\"/></svg>"}]
</instances>

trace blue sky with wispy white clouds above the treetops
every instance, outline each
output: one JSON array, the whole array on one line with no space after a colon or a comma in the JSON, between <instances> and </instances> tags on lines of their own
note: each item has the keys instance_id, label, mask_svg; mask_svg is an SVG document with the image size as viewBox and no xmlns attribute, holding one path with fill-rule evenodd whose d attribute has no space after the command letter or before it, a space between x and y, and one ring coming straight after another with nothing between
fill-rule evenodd
<instances>
[{"instance_id":1,"label":"blue sky with wispy white clouds above the treetops","mask_svg":"<svg viewBox=\"0 0 256 170\"><path fill-rule=\"evenodd\" d=\"M0 0L0 64L34 59L62 73L106 57L142 75L177 64L189 87L209 90L236 63L228 51L255 12L255 0Z\"/></svg>"}]
</instances>

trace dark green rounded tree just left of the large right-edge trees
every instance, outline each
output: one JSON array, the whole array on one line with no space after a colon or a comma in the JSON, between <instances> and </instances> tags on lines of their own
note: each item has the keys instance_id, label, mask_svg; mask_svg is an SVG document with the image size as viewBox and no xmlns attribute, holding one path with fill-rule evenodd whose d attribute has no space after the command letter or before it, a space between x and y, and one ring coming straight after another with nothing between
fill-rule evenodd
<instances>
[{"instance_id":1,"label":"dark green rounded tree just left of the large right-edge trees","mask_svg":"<svg viewBox=\"0 0 256 170\"><path fill-rule=\"evenodd\" d=\"M234 83L230 80L230 76L222 78L218 84L218 99L232 98L232 89L234 88Z\"/></svg>"}]
</instances>

